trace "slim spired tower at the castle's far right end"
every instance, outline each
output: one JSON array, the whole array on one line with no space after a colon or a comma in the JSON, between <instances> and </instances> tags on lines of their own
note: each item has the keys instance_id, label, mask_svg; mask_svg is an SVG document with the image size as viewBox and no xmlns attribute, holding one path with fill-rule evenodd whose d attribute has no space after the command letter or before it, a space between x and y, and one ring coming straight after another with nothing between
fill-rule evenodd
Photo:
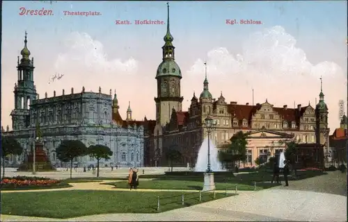
<instances>
[{"instance_id":1,"label":"slim spired tower at the castle's far right end","mask_svg":"<svg viewBox=\"0 0 348 222\"><path fill-rule=\"evenodd\" d=\"M320 94L319 94L319 103L315 107L315 115L316 115L316 127L315 134L317 144L324 145L324 149L326 152L329 152L329 132L328 128L328 108L326 103L324 102L324 93L322 87L322 78L320 78Z\"/></svg>"}]
</instances>

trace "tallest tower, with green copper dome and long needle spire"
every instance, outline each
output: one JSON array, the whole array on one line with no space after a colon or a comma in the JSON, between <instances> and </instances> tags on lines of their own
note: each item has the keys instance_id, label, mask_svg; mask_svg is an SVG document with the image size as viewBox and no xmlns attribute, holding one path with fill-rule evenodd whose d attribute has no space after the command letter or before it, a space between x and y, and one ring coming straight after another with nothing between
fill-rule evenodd
<instances>
[{"instance_id":1,"label":"tallest tower, with green copper dome and long needle spire","mask_svg":"<svg viewBox=\"0 0 348 222\"><path fill-rule=\"evenodd\" d=\"M182 78L180 67L175 62L175 47L173 46L173 36L169 26L169 4L167 3L167 33L164 36L164 46L162 46L162 62L157 69L157 97L156 103L156 122L161 126L166 125L171 119L171 113L182 110L182 100L180 96L180 80Z\"/></svg>"}]
</instances>

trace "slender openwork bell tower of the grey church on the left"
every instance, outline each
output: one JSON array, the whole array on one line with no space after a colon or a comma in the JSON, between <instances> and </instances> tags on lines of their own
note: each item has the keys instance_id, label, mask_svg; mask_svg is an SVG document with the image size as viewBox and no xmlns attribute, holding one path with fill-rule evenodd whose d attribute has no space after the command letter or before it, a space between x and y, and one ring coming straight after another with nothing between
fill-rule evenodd
<instances>
[{"instance_id":1,"label":"slender openwork bell tower of the grey church on the left","mask_svg":"<svg viewBox=\"0 0 348 222\"><path fill-rule=\"evenodd\" d=\"M30 51L27 47L26 32L24 49L21 51L22 59L17 60L17 83L15 83L15 109L11 112L13 130L20 130L30 126L29 105L36 99L36 89L33 79L34 59L29 58ZM33 117L35 118L35 117Z\"/></svg>"}]
</instances>

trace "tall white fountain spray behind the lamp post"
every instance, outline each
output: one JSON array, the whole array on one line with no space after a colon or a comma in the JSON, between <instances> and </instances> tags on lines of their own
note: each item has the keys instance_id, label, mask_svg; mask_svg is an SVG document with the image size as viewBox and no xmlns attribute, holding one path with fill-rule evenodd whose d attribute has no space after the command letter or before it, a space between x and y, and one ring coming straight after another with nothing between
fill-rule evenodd
<instances>
[{"instance_id":1,"label":"tall white fountain spray behind the lamp post","mask_svg":"<svg viewBox=\"0 0 348 222\"><path fill-rule=\"evenodd\" d=\"M212 143L212 140L209 141L210 146L210 169L213 172L223 171L221 162L218 159L218 150L216 146ZM203 140L202 145L200 146L197 162L196 162L196 172L205 172L207 170L208 163L208 138Z\"/></svg>"}]
</instances>

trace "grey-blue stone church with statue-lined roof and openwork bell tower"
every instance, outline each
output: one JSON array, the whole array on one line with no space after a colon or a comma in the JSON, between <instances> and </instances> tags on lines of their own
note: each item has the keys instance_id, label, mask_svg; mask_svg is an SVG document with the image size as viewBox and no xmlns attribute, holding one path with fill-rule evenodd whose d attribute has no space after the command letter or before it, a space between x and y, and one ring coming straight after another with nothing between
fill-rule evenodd
<instances>
[{"instance_id":1,"label":"grey-blue stone church with statue-lined roof and openwork bell tower","mask_svg":"<svg viewBox=\"0 0 348 222\"><path fill-rule=\"evenodd\" d=\"M8 164L17 165L26 160L33 148L35 126L40 124L44 148L56 167L62 163L56 158L55 150L64 139L76 139L86 146L102 144L111 148L110 160L102 160L102 165L118 167L143 166L143 126L142 121L132 119L132 110L127 109L127 118L122 119L118 112L116 91L113 94L86 92L81 87L79 92L63 92L53 97L40 99L34 85L34 59L30 58L26 34L22 58L17 60L17 83L15 83L15 108L10 113L12 130L1 127L1 137L14 136L24 148L21 156L10 156ZM96 164L93 157L77 157L74 164L85 167ZM65 167L65 166L64 166Z\"/></svg>"}]
</instances>

